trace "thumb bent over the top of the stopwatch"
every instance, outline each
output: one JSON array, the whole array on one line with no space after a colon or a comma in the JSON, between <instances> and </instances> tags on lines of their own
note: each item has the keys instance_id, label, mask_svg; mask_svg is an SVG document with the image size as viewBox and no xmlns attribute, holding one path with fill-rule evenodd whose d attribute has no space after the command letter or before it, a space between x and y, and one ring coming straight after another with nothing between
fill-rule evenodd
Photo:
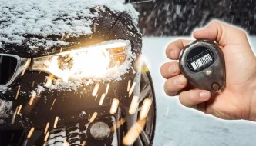
<instances>
[{"instance_id":1,"label":"thumb bent over the top of the stopwatch","mask_svg":"<svg viewBox=\"0 0 256 146\"><path fill-rule=\"evenodd\" d=\"M195 31L193 36L196 39L216 41L222 46L247 41L247 35L243 30L216 20L210 22L206 28Z\"/></svg>"}]
</instances>

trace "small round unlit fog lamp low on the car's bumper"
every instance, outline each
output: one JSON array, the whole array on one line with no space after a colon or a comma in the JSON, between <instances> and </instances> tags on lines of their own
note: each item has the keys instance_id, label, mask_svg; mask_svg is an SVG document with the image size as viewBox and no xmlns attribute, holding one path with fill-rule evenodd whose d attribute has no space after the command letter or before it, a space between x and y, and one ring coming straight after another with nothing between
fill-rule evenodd
<instances>
[{"instance_id":1,"label":"small round unlit fog lamp low on the car's bumper","mask_svg":"<svg viewBox=\"0 0 256 146\"><path fill-rule=\"evenodd\" d=\"M111 131L108 124L98 121L89 128L89 134L96 140L103 140L109 138Z\"/></svg>"}]
</instances>

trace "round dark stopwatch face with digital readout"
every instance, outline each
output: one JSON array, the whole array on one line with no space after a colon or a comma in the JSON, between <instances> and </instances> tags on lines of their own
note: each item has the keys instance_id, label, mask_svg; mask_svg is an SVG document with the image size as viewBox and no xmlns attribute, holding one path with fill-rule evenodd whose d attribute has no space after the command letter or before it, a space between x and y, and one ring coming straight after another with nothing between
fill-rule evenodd
<instances>
[{"instance_id":1,"label":"round dark stopwatch face with digital readout","mask_svg":"<svg viewBox=\"0 0 256 146\"><path fill-rule=\"evenodd\" d=\"M214 63L214 54L207 47L197 47L187 55L187 66L190 71L198 72Z\"/></svg>"}]
</instances>

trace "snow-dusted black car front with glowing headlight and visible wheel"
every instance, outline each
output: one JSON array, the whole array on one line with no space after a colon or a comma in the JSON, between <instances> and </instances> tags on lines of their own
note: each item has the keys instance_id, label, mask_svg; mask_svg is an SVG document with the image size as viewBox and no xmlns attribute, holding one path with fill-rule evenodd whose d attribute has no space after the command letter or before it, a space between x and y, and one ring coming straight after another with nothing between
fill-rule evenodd
<instances>
[{"instance_id":1,"label":"snow-dusted black car front with glowing headlight and visible wheel","mask_svg":"<svg viewBox=\"0 0 256 146\"><path fill-rule=\"evenodd\" d=\"M131 4L1 3L0 145L153 144L155 95Z\"/></svg>"}]
</instances>

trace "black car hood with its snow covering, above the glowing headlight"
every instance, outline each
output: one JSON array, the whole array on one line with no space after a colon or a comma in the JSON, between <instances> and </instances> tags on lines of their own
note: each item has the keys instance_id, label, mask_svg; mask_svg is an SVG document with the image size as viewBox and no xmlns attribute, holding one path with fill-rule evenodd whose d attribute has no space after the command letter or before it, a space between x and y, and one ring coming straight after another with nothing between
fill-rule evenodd
<instances>
[{"instance_id":1,"label":"black car hood with its snow covering, above the glowing headlight","mask_svg":"<svg viewBox=\"0 0 256 146\"><path fill-rule=\"evenodd\" d=\"M29 58L111 39L133 41L140 51L137 20L133 6L120 0L6 0L0 5L0 53Z\"/></svg>"}]
</instances>

